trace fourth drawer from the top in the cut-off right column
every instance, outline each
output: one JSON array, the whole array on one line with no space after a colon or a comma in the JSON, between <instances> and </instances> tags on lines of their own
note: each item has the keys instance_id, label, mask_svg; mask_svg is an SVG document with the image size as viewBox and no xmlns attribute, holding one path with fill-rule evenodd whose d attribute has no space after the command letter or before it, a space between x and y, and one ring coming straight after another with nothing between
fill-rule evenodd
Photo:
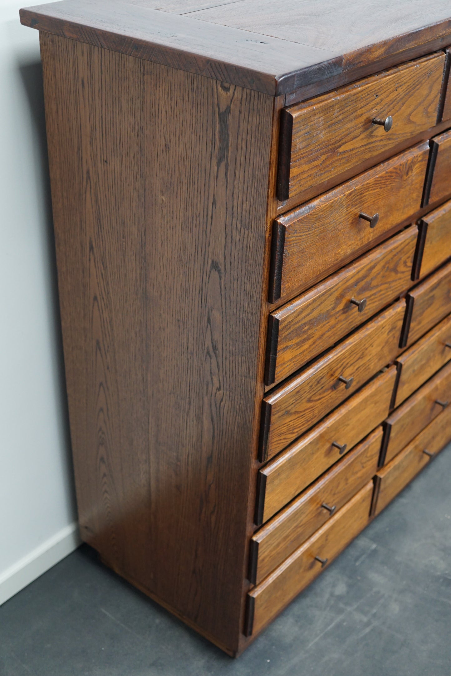
<instances>
[{"instance_id":1,"label":"fourth drawer from the top in the cut-off right column","mask_svg":"<svg viewBox=\"0 0 451 676\"><path fill-rule=\"evenodd\" d=\"M415 343L450 312L451 263L448 263L406 295L401 347Z\"/></svg>"}]
</instances>

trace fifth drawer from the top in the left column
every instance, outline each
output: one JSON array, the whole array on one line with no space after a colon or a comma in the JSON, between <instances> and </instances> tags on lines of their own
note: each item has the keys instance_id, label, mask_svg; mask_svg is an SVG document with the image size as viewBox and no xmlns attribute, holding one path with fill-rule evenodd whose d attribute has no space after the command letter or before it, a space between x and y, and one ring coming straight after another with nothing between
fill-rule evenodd
<instances>
[{"instance_id":1,"label":"fifth drawer from the top in the left column","mask_svg":"<svg viewBox=\"0 0 451 676\"><path fill-rule=\"evenodd\" d=\"M257 525L281 510L388 416L395 379L396 368L390 366L260 470Z\"/></svg>"}]
</instances>

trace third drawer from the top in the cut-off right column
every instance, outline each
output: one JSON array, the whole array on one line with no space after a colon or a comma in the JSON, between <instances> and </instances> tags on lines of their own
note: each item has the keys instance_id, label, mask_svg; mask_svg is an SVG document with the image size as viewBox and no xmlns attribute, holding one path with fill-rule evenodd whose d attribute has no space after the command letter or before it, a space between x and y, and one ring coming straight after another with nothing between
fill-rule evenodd
<instances>
[{"instance_id":1,"label":"third drawer from the top in the cut-off right column","mask_svg":"<svg viewBox=\"0 0 451 676\"><path fill-rule=\"evenodd\" d=\"M451 185L451 172L449 181ZM451 256L451 200L423 217L418 249L414 279L429 274Z\"/></svg>"}]
</instances>

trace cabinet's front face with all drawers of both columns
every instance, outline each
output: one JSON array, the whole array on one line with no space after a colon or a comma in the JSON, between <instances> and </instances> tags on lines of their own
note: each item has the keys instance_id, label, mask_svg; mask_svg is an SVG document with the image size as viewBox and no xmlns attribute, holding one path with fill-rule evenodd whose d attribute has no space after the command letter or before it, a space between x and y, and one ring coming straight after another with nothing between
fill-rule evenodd
<instances>
[{"instance_id":1,"label":"cabinet's front face with all drawers of both columns","mask_svg":"<svg viewBox=\"0 0 451 676\"><path fill-rule=\"evenodd\" d=\"M451 439L444 60L282 111L248 636Z\"/></svg>"}]
</instances>

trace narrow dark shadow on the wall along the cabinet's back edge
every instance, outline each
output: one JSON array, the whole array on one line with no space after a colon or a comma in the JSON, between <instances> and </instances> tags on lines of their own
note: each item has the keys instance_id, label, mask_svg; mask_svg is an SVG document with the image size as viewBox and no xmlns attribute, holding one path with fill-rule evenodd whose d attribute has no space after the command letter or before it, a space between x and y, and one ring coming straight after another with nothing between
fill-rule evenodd
<instances>
[{"instance_id":1,"label":"narrow dark shadow on the wall along the cabinet's back edge","mask_svg":"<svg viewBox=\"0 0 451 676\"><path fill-rule=\"evenodd\" d=\"M24 85L24 90L30 104L30 117L34 124L34 133L36 135L36 166L39 172L36 172L36 180L41 185L39 190L43 198L43 210L45 212L45 242L47 245L47 262L49 273L49 291L51 294L51 308L52 308L52 324L53 336L55 346L55 363L57 364L57 388L59 401L61 402L61 430L64 435L65 448L70 451L70 427L69 427L69 412L68 412L68 398L65 387L65 370L63 358L63 341L61 335L61 318L59 314L59 297L58 297L58 279L56 267L56 251L55 251L55 237L53 232L53 217L51 206L51 189L49 176L49 160L47 155L47 134L45 130L45 107L44 107L44 84L43 84L43 67L40 61L30 62L27 64L20 64L18 66L20 77ZM73 475L72 460L68 455L68 462L70 463L70 472ZM73 498L75 509L75 498Z\"/></svg>"}]
</instances>

